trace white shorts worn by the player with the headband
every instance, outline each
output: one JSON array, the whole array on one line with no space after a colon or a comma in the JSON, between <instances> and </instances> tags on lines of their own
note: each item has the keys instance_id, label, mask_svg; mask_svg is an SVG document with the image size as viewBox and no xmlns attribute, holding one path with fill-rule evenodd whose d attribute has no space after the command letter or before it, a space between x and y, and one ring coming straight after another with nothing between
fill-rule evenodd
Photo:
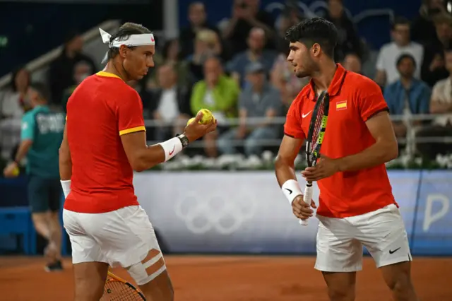
<instances>
[{"instance_id":1,"label":"white shorts worn by the player with the headband","mask_svg":"<svg viewBox=\"0 0 452 301\"><path fill-rule=\"evenodd\" d=\"M148 215L141 206L106 213L63 211L64 228L71 239L72 262L105 262L129 268L160 247Z\"/></svg>"}]
</instances>

